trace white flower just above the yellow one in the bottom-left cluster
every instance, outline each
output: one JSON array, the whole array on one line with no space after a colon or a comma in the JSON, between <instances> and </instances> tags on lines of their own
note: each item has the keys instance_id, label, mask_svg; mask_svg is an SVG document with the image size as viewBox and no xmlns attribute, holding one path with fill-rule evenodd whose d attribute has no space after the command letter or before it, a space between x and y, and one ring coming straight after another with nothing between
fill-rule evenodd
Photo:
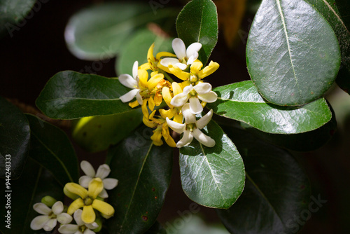
<instances>
[{"instance_id":1,"label":"white flower just above the yellow one in the bottom-left cluster","mask_svg":"<svg viewBox=\"0 0 350 234\"><path fill-rule=\"evenodd\" d=\"M84 188L88 188L90 181L94 178L100 178L102 179L102 182L104 183L104 189L102 190L101 193L99 193L99 197L101 198L108 198L109 195L106 192L106 189L110 190L113 188L116 188L118 185L118 179L113 179L113 178L106 178L109 173L111 172L111 169L109 168L109 165L103 164L100 165L99 168L97 169L97 173L94 172L94 167L92 165L83 160L80 163L81 170L86 174L83 177L79 178L79 184L80 186L83 186Z\"/></svg>"}]
</instances>

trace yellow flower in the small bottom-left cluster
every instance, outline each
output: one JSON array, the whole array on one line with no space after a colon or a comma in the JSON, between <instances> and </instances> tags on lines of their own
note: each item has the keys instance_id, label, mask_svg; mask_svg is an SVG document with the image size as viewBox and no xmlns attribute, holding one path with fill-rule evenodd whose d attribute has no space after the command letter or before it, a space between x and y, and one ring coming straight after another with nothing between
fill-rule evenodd
<instances>
[{"instance_id":1,"label":"yellow flower in the small bottom-left cluster","mask_svg":"<svg viewBox=\"0 0 350 234\"><path fill-rule=\"evenodd\" d=\"M102 179L94 178L89 184L88 190L76 183L67 183L64 186L64 194L74 201L69 205L67 214L72 215L77 209L83 207L81 219L84 223L93 223L96 219L94 209L106 216L113 216L114 208L107 202L97 199L104 188ZM78 198L77 198L78 197Z\"/></svg>"}]
</instances>

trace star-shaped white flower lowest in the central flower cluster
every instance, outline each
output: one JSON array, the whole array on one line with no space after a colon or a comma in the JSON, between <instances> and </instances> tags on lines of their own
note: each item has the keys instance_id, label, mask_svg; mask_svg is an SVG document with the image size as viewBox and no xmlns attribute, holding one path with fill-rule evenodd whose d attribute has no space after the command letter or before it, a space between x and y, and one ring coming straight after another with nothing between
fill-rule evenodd
<instances>
[{"instance_id":1,"label":"star-shaped white flower lowest in the central flower cluster","mask_svg":"<svg viewBox=\"0 0 350 234\"><path fill-rule=\"evenodd\" d=\"M200 131L200 129L204 128L211 120L211 116L213 116L212 109L197 121L195 114L190 111L190 104L186 103L182 107L182 114L183 117L185 117L185 123L176 123L167 118L167 124L172 130L179 134L183 133L183 137L176 143L176 147L181 148L187 146L192 142L193 137L201 144L204 144L204 146L215 146L214 139L211 139L211 137L208 137Z\"/></svg>"}]
</instances>

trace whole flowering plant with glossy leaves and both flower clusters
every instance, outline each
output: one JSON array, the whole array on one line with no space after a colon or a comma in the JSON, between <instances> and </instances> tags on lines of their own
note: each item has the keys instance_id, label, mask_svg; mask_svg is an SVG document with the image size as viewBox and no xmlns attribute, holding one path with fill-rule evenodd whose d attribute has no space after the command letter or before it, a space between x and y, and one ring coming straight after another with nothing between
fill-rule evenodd
<instances>
[{"instance_id":1,"label":"whole flowering plant with glossy leaves and both flower clusters","mask_svg":"<svg viewBox=\"0 0 350 234\"><path fill-rule=\"evenodd\" d=\"M153 1L149 12L144 4L117 2L71 18L71 53L94 61L117 55L118 77L58 72L36 99L48 121L0 99L7 131L0 137L10 136L1 145L0 175L8 191L29 194L11 204L24 211L13 214L13 223L25 220L16 233L165 233L158 215L173 156L183 193L215 208L230 233L302 228L295 216L309 211L311 189L288 150L318 149L334 134L335 113L323 96L335 81L349 92L348 27L328 0L262 0L246 43L251 80L218 86L235 76L209 59L223 2L229 1L192 0L179 14ZM176 15L174 32L165 21ZM125 18L139 21L125 29ZM56 119L69 121L78 146L105 153L97 170L80 160L79 177L81 157L48 123Z\"/></svg>"}]
</instances>

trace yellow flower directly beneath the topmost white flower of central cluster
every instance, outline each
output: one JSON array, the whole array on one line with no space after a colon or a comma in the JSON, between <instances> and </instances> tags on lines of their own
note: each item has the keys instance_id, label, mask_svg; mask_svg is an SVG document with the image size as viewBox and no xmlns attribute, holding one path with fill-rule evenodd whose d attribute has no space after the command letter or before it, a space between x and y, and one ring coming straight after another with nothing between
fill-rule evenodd
<instances>
[{"instance_id":1,"label":"yellow flower directly beneath the topmost white flower of central cluster","mask_svg":"<svg viewBox=\"0 0 350 234\"><path fill-rule=\"evenodd\" d=\"M196 85L203 78L213 74L214 71L218 69L219 64L217 62L211 61L207 67L204 67L204 69L202 69L202 62L200 62L200 60L195 60L195 62L193 62L190 67L190 72L183 71L173 64L169 64L168 67L169 71L181 80L189 81L190 83Z\"/></svg>"}]
</instances>

